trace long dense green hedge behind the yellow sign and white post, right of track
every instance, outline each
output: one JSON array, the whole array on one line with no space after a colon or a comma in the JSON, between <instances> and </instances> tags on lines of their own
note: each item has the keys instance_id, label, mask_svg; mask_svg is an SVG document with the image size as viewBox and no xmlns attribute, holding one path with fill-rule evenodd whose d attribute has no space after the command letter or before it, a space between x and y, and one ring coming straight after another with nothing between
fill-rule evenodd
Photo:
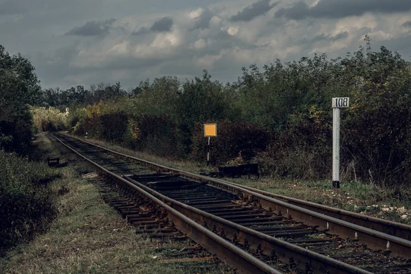
<instances>
[{"instance_id":1,"label":"long dense green hedge behind the yellow sign and white post, right of track","mask_svg":"<svg viewBox=\"0 0 411 274\"><path fill-rule=\"evenodd\" d=\"M326 179L332 165L332 97L350 97L342 112L343 180L399 186L411 177L411 66L385 47L366 45L345 57L314 55L242 69L223 84L164 76L134 89L99 84L43 92L70 108L71 132L173 159L203 161L203 123L217 123L212 164L257 161L265 175Z\"/></svg>"}]
</instances>

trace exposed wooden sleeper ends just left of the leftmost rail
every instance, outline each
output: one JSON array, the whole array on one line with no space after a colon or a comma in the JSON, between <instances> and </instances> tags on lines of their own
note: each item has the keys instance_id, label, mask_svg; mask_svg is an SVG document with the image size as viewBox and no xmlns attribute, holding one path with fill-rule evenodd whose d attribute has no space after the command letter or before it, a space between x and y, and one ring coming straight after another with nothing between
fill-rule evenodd
<instances>
[{"instance_id":1,"label":"exposed wooden sleeper ends just left of the leftmost rail","mask_svg":"<svg viewBox=\"0 0 411 274\"><path fill-rule=\"evenodd\" d=\"M115 185L108 184L98 175L92 176L88 180L98 186L103 201L136 227L136 234L143 234L156 242L173 242L170 247L155 249L155 254L162 256L162 264L180 264L195 273L216 271L221 261L179 232L172 222L164 218L164 211L158 210L152 201L145 197L130 197L129 193L123 195Z\"/></svg>"}]
</instances>

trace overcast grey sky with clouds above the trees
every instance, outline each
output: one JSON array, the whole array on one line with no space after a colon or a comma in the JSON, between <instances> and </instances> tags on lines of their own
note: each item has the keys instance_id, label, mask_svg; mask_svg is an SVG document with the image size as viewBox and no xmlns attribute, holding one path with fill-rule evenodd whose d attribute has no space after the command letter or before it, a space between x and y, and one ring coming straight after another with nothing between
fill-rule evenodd
<instances>
[{"instance_id":1,"label":"overcast grey sky with clouds above the trees","mask_svg":"<svg viewBox=\"0 0 411 274\"><path fill-rule=\"evenodd\" d=\"M241 68L314 53L344 57L371 37L411 60L410 0L0 0L0 45L43 88L164 75L234 82Z\"/></svg>"}]
</instances>

